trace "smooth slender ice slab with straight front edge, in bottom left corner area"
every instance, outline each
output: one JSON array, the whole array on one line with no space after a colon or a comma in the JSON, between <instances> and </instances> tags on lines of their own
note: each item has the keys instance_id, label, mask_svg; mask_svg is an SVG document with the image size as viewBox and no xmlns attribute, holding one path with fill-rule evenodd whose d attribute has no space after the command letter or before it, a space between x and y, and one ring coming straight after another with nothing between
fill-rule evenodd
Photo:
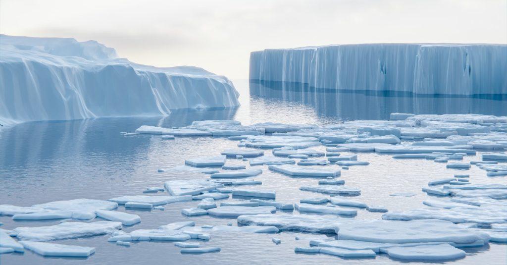
<instances>
[{"instance_id":1,"label":"smooth slender ice slab with straight front edge, in bottom left corner area","mask_svg":"<svg viewBox=\"0 0 507 265\"><path fill-rule=\"evenodd\" d=\"M95 253L95 248L91 247L30 241L20 241L19 243L26 249L43 256L88 257Z\"/></svg>"}]
</instances>

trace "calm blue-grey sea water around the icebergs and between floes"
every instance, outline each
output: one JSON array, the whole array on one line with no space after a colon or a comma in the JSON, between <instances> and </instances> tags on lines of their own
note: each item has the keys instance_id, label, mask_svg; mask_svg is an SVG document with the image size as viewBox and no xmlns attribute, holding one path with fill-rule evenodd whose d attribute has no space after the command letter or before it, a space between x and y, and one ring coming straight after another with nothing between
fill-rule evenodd
<instances>
[{"instance_id":1,"label":"calm blue-grey sea water around the icebergs and between floes","mask_svg":"<svg viewBox=\"0 0 507 265\"><path fill-rule=\"evenodd\" d=\"M297 84L259 83L233 80L241 93L241 106L235 109L174 111L167 117L100 118L73 121L27 122L0 129L0 204L30 206L58 200L95 198L106 200L122 195L142 194L150 186L162 186L173 179L206 178L204 174L158 173L159 168L181 165L185 158L215 155L226 148L234 148L237 141L224 138L186 138L161 140L140 135L123 137L120 131L134 131L140 125L180 127L194 120L236 119L243 124L256 122L333 124L354 119L388 119L391 112L418 114L480 113L507 115L507 101L502 96L429 97L400 93L372 93L316 90ZM316 149L324 150L323 147ZM267 150L270 152L270 150ZM478 156L480 156L480 151ZM370 162L367 167L350 167L342 171L347 186L361 189L360 201L382 205L389 210L409 210L422 206L428 195L421 192L429 180L470 174L476 183L507 184L506 177L489 178L484 171L472 167L464 172L446 169L445 164L431 160L392 159L389 155L360 153L360 160ZM477 160L466 156L464 162ZM228 163L245 163L230 160ZM258 167L264 174L255 177L260 190L275 190L276 200L299 203L300 198L322 196L300 191L300 186L314 185L317 179L291 178L270 172L267 166ZM252 187L252 186L245 186ZM252 187L253 188L253 187ZM413 192L413 197L389 196L394 192ZM157 193L161 195L161 193ZM223 201L239 201L229 198ZM141 223L124 226L125 231L150 229L160 225L193 220L196 225L236 225L236 219L210 216L188 218L182 208L195 207L199 202L170 204L165 211L120 211L135 213ZM280 211L278 211L280 213ZM299 214L297 211L294 214ZM358 211L356 219L380 218L381 213ZM344 217L336 217L344 218ZM100 218L97 218L100 219ZM42 226L59 223L50 221L13 221L0 216L0 226L13 229L19 226ZM295 236L301 240L295 240ZM332 237L332 235L327 235ZM273 244L269 234L213 233L202 246L220 246L219 253L202 255L180 254L171 242L139 242L121 247L107 242L110 236L61 240L55 243L90 246L96 253L88 258L47 258L30 251L24 254L0 256L1 264L396 264L385 254L375 259L345 259L324 254L297 254L294 248L307 246L310 238L322 235L280 233L275 237L282 243ZM446 264L505 264L507 245L489 244L481 248L464 249L466 258L442 262ZM420 263L420 262L411 262Z\"/></svg>"}]
</instances>

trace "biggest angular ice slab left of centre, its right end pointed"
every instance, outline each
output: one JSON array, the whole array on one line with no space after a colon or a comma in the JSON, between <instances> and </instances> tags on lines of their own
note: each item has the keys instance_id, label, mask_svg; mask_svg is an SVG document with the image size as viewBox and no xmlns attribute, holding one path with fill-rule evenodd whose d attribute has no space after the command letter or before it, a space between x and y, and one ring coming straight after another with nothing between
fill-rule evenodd
<instances>
[{"instance_id":1,"label":"biggest angular ice slab left of centre, its right end pointed","mask_svg":"<svg viewBox=\"0 0 507 265\"><path fill-rule=\"evenodd\" d=\"M171 180L164 187L171 195L198 195L203 191L211 191L223 187L223 184L200 179Z\"/></svg>"}]
</instances>

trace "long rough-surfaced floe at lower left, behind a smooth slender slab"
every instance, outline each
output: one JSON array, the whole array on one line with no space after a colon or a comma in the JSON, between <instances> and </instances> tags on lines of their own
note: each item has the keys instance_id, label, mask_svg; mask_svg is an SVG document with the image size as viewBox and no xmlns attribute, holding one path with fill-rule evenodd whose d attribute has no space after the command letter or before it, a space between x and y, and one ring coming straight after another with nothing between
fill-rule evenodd
<instances>
[{"instance_id":1,"label":"long rough-surfaced floe at lower left, behind a smooth slender slab","mask_svg":"<svg viewBox=\"0 0 507 265\"><path fill-rule=\"evenodd\" d=\"M111 234L121 227L121 222L111 221L63 222L52 226L17 227L13 233L19 240L51 241Z\"/></svg>"}]
</instances>

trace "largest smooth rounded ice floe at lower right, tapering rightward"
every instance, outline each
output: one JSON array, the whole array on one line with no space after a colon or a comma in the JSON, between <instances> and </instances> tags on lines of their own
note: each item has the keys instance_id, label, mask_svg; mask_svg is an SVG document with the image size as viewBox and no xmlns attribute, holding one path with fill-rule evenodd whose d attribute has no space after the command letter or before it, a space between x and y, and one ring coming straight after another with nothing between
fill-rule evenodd
<instances>
[{"instance_id":1,"label":"largest smooth rounded ice floe at lower right, tapering rightward","mask_svg":"<svg viewBox=\"0 0 507 265\"><path fill-rule=\"evenodd\" d=\"M338 238L378 243L454 242L487 240L486 234L444 220L361 220L339 225Z\"/></svg>"}]
</instances>

